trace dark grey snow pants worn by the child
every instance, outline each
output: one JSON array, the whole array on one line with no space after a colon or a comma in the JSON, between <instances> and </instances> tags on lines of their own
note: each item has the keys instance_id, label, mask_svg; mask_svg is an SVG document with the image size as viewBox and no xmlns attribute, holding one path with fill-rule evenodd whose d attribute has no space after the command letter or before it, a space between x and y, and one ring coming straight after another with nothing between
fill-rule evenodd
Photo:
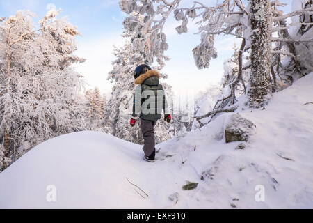
<instances>
[{"instance_id":1,"label":"dark grey snow pants worn by the child","mask_svg":"<svg viewBox=\"0 0 313 223\"><path fill-rule=\"evenodd\" d=\"M152 155L155 146L154 140L154 126L157 121L150 121L141 118L141 132L143 133L144 146L143 151L145 156Z\"/></svg>"}]
</instances>

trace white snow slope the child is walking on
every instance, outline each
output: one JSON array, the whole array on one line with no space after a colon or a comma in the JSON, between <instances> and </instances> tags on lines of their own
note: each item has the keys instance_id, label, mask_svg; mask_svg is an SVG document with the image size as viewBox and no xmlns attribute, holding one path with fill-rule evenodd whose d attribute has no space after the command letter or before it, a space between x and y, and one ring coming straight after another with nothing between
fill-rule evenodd
<instances>
[{"instance_id":1,"label":"white snow slope the child is walking on","mask_svg":"<svg viewBox=\"0 0 313 223\"><path fill-rule=\"evenodd\" d=\"M266 109L241 110L257 125L243 150L223 139L230 114L159 144L157 157L173 156L154 164L143 162L141 146L109 134L45 141L0 174L0 208L313 208L313 105L303 105L313 102L312 86L313 73ZM184 191L186 180L199 185ZM56 202L47 201L47 185L56 186ZM257 185L264 202L255 201ZM177 202L168 199L175 192Z\"/></svg>"}]
</instances>

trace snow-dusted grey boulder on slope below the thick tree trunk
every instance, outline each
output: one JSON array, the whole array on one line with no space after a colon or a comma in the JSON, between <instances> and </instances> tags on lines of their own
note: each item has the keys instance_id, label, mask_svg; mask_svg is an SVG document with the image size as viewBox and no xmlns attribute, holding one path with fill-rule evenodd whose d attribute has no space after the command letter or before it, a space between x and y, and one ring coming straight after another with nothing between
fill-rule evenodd
<instances>
[{"instance_id":1,"label":"snow-dusted grey boulder on slope below the thick tree trunk","mask_svg":"<svg viewBox=\"0 0 313 223\"><path fill-rule=\"evenodd\" d=\"M255 132L255 124L240 114L233 114L225 128L226 143L232 141L248 141Z\"/></svg>"}]
</instances>

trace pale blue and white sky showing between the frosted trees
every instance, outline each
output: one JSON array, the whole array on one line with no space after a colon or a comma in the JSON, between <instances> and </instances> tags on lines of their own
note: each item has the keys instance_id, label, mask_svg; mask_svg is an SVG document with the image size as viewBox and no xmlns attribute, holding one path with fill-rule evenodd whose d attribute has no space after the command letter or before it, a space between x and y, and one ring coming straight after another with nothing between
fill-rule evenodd
<instances>
[{"instance_id":1,"label":"pale blue and white sky showing between the frosted trees","mask_svg":"<svg viewBox=\"0 0 313 223\"><path fill-rule=\"evenodd\" d=\"M281 1L291 5L291 0ZM204 2L212 5L216 0ZM183 0L181 6L192 3L192 0ZM0 0L0 17L15 15L17 10L31 10L37 15L33 19L37 22L50 8L61 8L59 17L67 17L82 34L77 38L78 50L75 54L87 61L75 68L85 77L87 89L97 86L103 93L110 93L113 84L106 78L115 59L113 45L122 46L125 41L121 34L126 14L120 10L118 0ZM286 11L289 11L289 6ZM192 23L188 25L188 33L178 35L175 27L179 25L171 17L164 27L169 45L166 54L171 58L162 70L168 74L166 82L172 85L175 93L198 93L211 84L218 84L223 77L223 62L232 56L234 43L240 46L240 40L233 36L217 36L215 47L218 58L211 60L209 68L198 70L192 49L200 44L200 35L195 34L197 28Z\"/></svg>"}]
</instances>

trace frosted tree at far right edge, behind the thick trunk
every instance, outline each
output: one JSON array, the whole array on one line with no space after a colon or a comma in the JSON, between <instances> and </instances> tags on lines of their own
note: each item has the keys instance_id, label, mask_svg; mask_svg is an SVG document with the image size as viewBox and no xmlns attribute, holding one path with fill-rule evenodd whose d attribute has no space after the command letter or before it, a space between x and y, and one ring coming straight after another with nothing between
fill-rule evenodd
<instances>
[{"instance_id":1,"label":"frosted tree at far right edge, behind the thick trunk","mask_svg":"<svg viewBox=\"0 0 313 223\"><path fill-rule=\"evenodd\" d=\"M278 7L284 5L279 1L272 3L273 30L277 31L278 37L274 38L271 71L275 77L274 82L278 86L280 83L276 79L280 79L284 84L292 84L313 71L313 1L294 0L293 11L289 16L296 16L291 17L291 23L287 23L287 16L282 16L282 11L278 10Z\"/></svg>"}]
</instances>

